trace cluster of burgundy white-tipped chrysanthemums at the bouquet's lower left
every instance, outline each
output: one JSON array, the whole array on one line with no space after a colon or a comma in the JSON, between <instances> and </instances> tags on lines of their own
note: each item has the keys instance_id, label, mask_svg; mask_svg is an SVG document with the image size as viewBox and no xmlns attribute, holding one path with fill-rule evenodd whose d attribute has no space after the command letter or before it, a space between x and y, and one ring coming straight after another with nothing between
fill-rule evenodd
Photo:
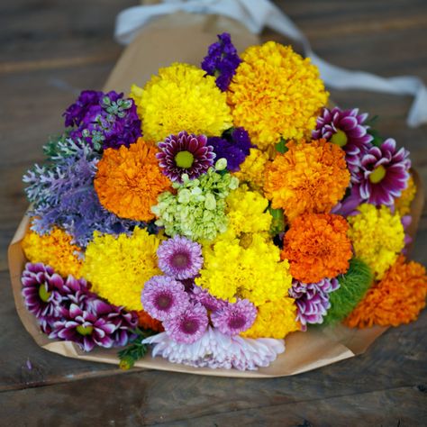
<instances>
[{"instance_id":1,"label":"cluster of burgundy white-tipped chrysanthemums at the bouquet's lower left","mask_svg":"<svg viewBox=\"0 0 427 427\"><path fill-rule=\"evenodd\" d=\"M84 279L65 279L50 266L27 263L22 284L25 306L50 338L74 341L90 351L95 345L123 347L135 336L137 313L101 300Z\"/></svg>"}]
</instances>

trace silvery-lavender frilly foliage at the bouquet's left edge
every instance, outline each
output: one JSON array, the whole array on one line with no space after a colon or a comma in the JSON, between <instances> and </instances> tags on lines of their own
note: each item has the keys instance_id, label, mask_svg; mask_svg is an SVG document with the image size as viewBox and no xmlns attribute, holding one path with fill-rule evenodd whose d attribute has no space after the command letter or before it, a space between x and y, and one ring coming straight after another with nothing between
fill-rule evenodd
<instances>
[{"instance_id":1,"label":"silvery-lavender frilly foliage at the bouquet's left edge","mask_svg":"<svg viewBox=\"0 0 427 427\"><path fill-rule=\"evenodd\" d=\"M47 150L46 164L35 165L23 177L33 204L32 230L44 234L59 226L84 248L95 231L117 235L146 225L119 218L99 202L94 178L100 155L86 141L68 138Z\"/></svg>"}]
</instances>

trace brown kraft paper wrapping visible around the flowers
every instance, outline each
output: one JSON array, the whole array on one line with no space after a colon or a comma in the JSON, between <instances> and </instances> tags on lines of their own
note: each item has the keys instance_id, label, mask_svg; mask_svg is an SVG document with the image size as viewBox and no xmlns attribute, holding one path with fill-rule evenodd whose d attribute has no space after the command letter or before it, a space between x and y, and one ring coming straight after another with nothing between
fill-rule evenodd
<instances>
[{"instance_id":1,"label":"brown kraft paper wrapping visible around the flowers","mask_svg":"<svg viewBox=\"0 0 427 427\"><path fill-rule=\"evenodd\" d=\"M240 52L252 44L259 43L259 38L250 34L241 24L224 17L179 13L150 23L124 50L104 89L114 89L127 94L133 83L142 86L152 74L157 73L158 68L166 67L171 62L181 61L199 65L206 54L207 46L215 41L216 34L224 31L232 33L232 40ZM423 204L422 184L416 172L413 174L418 191L412 204L413 223L408 231L412 237L417 230ZM25 329L45 350L68 358L118 364L117 349L96 349L86 353L73 342L52 341L40 331L35 317L25 308L21 295L21 275L27 262L21 241L28 226L29 219L25 216L8 250L14 301ZM357 330L342 325L329 328L316 327L309 329L308 332L294 332L286 337L285 353L279 355L268 368L260 368L258 371L191 368L169 363L165 359L152 358L150 355L137 361L135 366L220 377L285 377L321 368L363 353L383 332L386 332L386 328Z\"/></svg>"}]
</instances>

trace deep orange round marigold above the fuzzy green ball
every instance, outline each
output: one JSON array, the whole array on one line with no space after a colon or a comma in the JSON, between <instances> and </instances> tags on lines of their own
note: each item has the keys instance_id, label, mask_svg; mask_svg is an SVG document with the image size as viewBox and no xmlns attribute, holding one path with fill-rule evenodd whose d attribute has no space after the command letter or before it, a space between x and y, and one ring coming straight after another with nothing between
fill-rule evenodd
<instances>
[{"instance_id":1,"label":"deep orange round marigold above the fuzzy green ball","mask_svg":"<svg viewBox=\"0 0 427 427\"><path fill-rule=\"evenodd\" d=\"M345 273L352 256L348 229L342 216L331 213L305 213L295 218L281 253L290 263L292 277L317 283Z\"/></svg>"}]
</instances>

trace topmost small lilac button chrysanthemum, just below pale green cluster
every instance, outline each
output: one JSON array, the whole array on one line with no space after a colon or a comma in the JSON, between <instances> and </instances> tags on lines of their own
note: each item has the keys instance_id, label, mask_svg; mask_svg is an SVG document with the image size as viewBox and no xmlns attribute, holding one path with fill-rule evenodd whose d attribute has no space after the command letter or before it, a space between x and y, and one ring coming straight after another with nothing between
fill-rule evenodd
<instances>
[{"instance_id":1,"label":"topmost small lilac button chrysanthemum, just below pale green cluster","mask_svg":"<svg viewBox=\"0 0 427 427\"><path fill-rule=\"evenodd\" d=\"M177 279L197 276L203 265L200 244L181 236L162 241L157 256L161 271Z\"/></svg>"}]
</instances>

